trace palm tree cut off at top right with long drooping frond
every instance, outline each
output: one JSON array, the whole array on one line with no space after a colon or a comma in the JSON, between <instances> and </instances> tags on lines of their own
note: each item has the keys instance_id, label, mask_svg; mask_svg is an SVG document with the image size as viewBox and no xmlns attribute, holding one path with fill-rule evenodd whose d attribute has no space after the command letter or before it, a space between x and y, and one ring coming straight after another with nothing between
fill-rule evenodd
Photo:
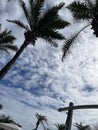
<instances>
[{"instance_id":1,"label":"palm tree cut off at top right with long drooping frond","mask_svg":"<svg viewBox=\"0 0 98 130\"><path fill-rule=\"evenodd\" d=\"M98 0L85 0L84 2L74 1L67 8L72 12L73 17L76 21L86 20L87 25L83 27L79 32L70 36L69 39L65 41L63 46L63 56L62 61L66 57L70 47L76 40L77 36L88 26L92 26L94 34L98 37Z\"/></svg>"}]
</instances>

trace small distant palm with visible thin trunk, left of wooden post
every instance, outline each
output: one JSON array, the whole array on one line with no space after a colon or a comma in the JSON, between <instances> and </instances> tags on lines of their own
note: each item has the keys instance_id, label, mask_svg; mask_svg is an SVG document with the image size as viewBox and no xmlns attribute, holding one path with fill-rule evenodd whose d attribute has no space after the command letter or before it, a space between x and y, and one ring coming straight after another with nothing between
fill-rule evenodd
<instances>
[{"instance_id":1,"label":"small distant palm with visible thin trunk, left of wooden post","mask_svg":"<svg viewBox=\"0 0 98 130\"><path fill-rule=\"evenodd\" d=\"M42 124L44 130L47 130L46 127L44 126L44 122L47 123L47 118L46 116L42 116L38 113L36 113L36 118L37 118L37 122L36 122L36 128L34 130L37 130L38 129L38 126L40 124Z\"/></svg>"}]
</instances>

